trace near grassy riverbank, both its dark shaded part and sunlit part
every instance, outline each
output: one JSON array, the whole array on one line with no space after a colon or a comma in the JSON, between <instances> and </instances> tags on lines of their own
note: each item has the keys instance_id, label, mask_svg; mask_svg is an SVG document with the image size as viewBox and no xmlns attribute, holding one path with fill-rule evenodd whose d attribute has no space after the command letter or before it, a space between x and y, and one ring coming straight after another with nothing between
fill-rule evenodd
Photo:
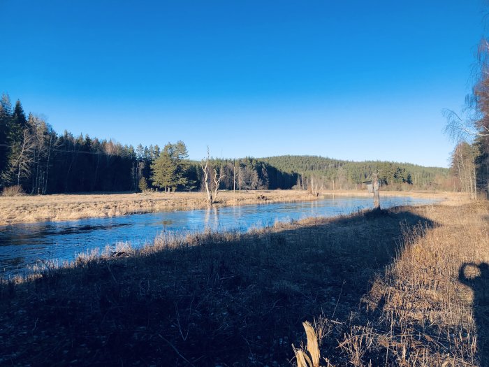
<instances>
[{"instance_id":1,"label":"near grassy riverbank, both its dark shaded part and sunlit part","mask_svg":"<svg viewBox=\"0 0 489 367\"><path fill-rule=\"evenodd\" d=\"M6 366L488 366L489 205L161 236L1 282Z\"/></svg>"}]
</instances>

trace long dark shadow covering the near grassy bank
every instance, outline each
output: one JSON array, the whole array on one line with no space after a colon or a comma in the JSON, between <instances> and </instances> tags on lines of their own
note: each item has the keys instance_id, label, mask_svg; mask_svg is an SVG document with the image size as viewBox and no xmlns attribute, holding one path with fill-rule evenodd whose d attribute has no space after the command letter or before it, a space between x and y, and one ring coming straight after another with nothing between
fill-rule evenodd
<instances>
[{"instance_id":1,"label":"long dark shadow covering the near grassy bank","mask_svg":"<svg viewBox=\"0 0 489 367\"><path fill-rule=\"evenodd\" d=\"M403 231L420 224L434 225L397 208L201 234L3 284L0 364L287 365L302 322L358 310Z\"/></svg>"}]
</instances>

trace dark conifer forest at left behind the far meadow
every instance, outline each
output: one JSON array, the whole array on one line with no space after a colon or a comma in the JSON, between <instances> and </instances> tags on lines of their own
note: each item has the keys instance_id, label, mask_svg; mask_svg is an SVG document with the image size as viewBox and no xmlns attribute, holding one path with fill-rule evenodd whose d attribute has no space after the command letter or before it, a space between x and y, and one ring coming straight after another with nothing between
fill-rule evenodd
<instances>
[{"instance_id":1,"label":"dark conifer forest at left behind the far meadow","mask_svg":"<svg viewBox=\"0 0 489 367\"><path fill-rule=\"evenodd\" d=\"M290 189L297 175L257 159L211 159L221 189ZM149 147L122 145L88 135L57 134L42 117L26 115L22 103L0 100L0 189L20 186L31 194L196 190L200 162L189 161L182 141ZM233 182L235 184L233 185Z\"/></svg>"}]
</instances>

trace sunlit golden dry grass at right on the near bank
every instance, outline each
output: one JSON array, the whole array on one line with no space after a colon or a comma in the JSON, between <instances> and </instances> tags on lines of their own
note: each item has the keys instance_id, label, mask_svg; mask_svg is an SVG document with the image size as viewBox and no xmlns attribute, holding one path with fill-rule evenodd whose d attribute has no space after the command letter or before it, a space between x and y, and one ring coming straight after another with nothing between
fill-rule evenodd
<instances>
[{"instance_id":1,"label":"sunlit golden dry grass at right on the near bank","mask_svg":"<svg viewBox=\"0 0 489 367\"><path fill-rule=\"evenodd\" d=\"M325 366L489 366L488 203L414 212L436 225L405 229L360 311L320 320Z\"/></svg>"}]
</instances>

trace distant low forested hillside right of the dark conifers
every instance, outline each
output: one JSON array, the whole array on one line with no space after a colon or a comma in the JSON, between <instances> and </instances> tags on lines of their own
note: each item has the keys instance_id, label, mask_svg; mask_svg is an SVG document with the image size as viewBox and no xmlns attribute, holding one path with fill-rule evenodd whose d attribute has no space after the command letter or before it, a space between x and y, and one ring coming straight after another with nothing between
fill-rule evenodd
<instances>
[{"instance_id":1,"label":"distant low forested hillside right of the dark conifers","mask_svg":"<svg viewBox=\"0 0 489 367\"><path fill-rule=\"evenodd\" d=\"M368 180L379 171L382 185L393 189L449 189L451 187L448 168L423 167L416 164L391 161L344 161L310 155L284 155L257 159L285 173L298 174L298 185L307 186L314 177L321 180L323 187L351 189ZM304 182L304 183L302 183Z\"/></svg>"}]
</instances>

